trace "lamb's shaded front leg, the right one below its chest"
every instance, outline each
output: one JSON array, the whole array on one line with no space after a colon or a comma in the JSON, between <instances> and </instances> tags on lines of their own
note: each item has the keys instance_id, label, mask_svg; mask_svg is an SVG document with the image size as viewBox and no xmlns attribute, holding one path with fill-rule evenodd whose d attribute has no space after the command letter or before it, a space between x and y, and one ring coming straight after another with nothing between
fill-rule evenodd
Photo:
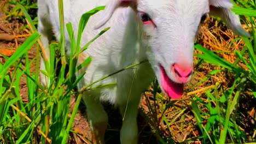
<instances>
[{"instance_id":1,"label":"lamb's shaded front leg, the right one below its chest","mask_svg":"<svg viewBox=\"0 0 256 144\"><path fill-rule=\"evenodd\" d=\"M137 98L130 99L126 104L119 105L121 115L123 116L123 124L120 131L120 141L122 144L138 143L138 105L141 97L137 95Z\"/></svg>"}]
</instances>

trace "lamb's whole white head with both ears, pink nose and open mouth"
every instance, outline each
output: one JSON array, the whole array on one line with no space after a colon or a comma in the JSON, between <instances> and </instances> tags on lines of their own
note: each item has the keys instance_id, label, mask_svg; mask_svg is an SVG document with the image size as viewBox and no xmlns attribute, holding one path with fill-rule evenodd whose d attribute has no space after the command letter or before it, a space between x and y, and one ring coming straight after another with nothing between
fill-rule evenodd
<instances>
[{"instance_id":1,"label":"lamb's whole white head with both ears, pink nose and open mouth","mask_svg":"<svg viewBox=\"0 0 256 144\"><path fill-rule=\"evenodd\" d=\"M173 99L181 98L184 83L193 73L194 40L200 23L208 14L218 16L235 33L249 34L229 0L111 0L106 7L103 25L118 7L131 7L148 45L148 59L162 90Z\"/></svg>"}]
</instances>

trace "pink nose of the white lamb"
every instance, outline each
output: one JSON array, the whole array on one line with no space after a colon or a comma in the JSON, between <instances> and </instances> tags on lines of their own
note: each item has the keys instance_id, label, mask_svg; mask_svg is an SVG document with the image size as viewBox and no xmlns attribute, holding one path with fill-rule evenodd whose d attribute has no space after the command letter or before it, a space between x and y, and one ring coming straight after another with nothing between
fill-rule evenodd
<instances>
[{"instance_id":1,"label":"pink nose of the white lamb","mask_svg":"<svg viewBox=\"0 0 256 144\"><path fill-rule=\"evenodd\" d=\"M193 66L173 64L172 67L178 82L185 83L188 81L189 76L192 74Z\"/></svg>"}]
</instances>

